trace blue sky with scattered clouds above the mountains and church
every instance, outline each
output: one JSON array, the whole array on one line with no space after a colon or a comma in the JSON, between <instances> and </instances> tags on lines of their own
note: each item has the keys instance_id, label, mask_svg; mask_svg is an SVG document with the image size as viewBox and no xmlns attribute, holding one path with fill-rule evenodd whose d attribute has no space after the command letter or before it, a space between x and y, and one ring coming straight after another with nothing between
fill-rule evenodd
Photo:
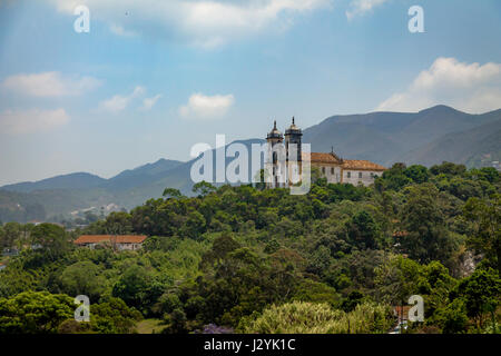
<instances>
[{"instance_id":1,"label":"blue sky with scattered clouds above the mountains and church","mask_svg":"<svg viewBox=\"0 0 501 356\"><path fill-rule=\"evenodd\" d=\"M500 44L499 0L0 0L0 186L188 160L293 116L491 111Z\"/></svg>"}]
</instances>

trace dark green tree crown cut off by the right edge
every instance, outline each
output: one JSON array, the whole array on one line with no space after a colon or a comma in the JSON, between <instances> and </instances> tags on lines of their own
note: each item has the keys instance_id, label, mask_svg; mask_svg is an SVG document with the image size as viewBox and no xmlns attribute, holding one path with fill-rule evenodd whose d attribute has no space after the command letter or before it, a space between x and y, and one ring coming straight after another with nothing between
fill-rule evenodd
<instances>
[{"instance_id":1,"label":"dark green tree crown cut off by the right edge","mask_svg":"<svg viewBox=\"0 0 501 356\"><path fill-rule=\"evenodd\" d=\"M463 216L472 224L468 246L483 254L501 276L501 195L497 194L487 201L470 198Z\"/></svg>"}]
</instances>

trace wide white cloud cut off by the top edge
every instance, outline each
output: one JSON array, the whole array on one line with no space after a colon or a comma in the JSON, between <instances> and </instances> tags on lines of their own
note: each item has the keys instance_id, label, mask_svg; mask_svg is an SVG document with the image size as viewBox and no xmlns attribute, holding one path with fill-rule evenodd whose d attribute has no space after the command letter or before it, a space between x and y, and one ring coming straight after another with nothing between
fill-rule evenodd
<instances>
[{"instance_id":1,"label":"wide white cloud cut off by the top edge","mask_svg":"<svg viewBox=\"0 0 501 356\"><path fill-rule=\"evenodd\" d=\"M78 4L115 33L187 40L204 48L288 22L297 13L330 7L333 0L48 0L71 14Z\"/></svg>"}]
</instances>

